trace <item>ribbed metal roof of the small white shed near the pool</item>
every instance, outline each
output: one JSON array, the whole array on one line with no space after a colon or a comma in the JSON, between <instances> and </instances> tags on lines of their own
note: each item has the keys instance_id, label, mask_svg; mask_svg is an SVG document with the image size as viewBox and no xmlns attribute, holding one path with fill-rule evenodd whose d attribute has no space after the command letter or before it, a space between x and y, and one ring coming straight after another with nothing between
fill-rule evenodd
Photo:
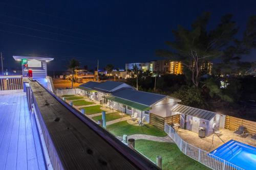
<instances>
[{"instance_id":1,"label":"ribbed metal roof of the small white shed near the pool","mask_svg":"<svg viewBox=\"0 0 256 170\"><path fill-rule=\"evenodd\" d=\"M176 104L170 110L179 112L182 114L187 114L187 115L191 115L194 117L206 119L206 120L211 120L217 114L216 112L211 112L211 111L207 111L207 110L203 110L203 109L189 107L189 106L185 106L185 105L181 105L181 104Z\"/></svg>"}]
</instances>

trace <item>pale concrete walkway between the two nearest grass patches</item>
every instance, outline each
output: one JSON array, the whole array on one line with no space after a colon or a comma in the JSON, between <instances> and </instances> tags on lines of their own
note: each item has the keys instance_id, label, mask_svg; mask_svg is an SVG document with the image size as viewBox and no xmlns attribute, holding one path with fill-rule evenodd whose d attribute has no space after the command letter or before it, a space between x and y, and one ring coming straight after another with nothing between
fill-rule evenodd
<instances>
[{"instance_id":1,"label":"pale concrete walkway between the two nearest grass patches","mask_svg":"<svg viewBox=\"0 0 256 170\"><path fill-rule=\"evenodd\" d=\"M119 139L122 139L122 136L118 136ZM168 135L161 137L161 136L151 136L151 135L142 135L142 134L134 134L127 136L128 139L133 138L135 140L138 139L145 139L145 140L152 140L158 142L170 142L174 143L173 139L170 138Z\"/></svg>"}]
</instances>

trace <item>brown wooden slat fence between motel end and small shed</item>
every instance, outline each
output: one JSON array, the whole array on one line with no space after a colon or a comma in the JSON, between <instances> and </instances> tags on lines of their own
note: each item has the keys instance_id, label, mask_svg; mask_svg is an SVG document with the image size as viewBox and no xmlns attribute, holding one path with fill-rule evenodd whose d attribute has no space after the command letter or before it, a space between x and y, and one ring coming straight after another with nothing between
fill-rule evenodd
<instances>
[{"instance_id":1,"label":"brown wooden slat fence between motel end and small shed","mask_svg":"<svg viewBox=\"0 0 256 170\"><path fill-rule=\"evenodd\" d=\"M180 124L180 114L173 116L162 117L153 113L150 113L150 124L164 131L164 123L170 125Z\"/></svg>"}]
</instances>

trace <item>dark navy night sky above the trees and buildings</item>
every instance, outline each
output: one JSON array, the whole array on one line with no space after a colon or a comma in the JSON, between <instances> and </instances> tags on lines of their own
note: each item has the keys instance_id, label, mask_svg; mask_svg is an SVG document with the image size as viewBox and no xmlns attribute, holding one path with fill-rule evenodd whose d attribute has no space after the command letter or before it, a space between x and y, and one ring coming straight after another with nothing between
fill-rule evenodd
<instances>
[{"instance_id":1,"label":"dark navy night sky above the trees and buildings","mask_svg":"<svg viewBox=\"0 0 256 170\"><path fill-rule=\"evenodd\" d=\"M245 29L256 15L256 1L1 1L0 51L5 67L20 67L12 55L37 54L55 58L49 70L64 70L70 58L95 68L112 63L159 59L178 25L190 27L203 12L211 12L209 29L224 14ZM254 55L253 55L254 54ZM255 51L243 60L256 60ZM21 68L20 68L21 69Z\"/></svg>"}]
</instances>

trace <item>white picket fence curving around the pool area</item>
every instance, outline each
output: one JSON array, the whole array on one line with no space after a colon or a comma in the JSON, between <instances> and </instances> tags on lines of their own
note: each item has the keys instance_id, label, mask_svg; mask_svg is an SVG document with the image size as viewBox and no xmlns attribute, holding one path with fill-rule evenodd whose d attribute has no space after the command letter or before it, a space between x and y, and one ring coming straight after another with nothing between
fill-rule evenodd
<instances>
[{"instance_id":1,"label":"white picket fence curving around the pool area","mask_svg":"<svg viewBox=\"0 0 256 170\"><path fill-rule=\"evenodd\" d=\"M164 131L174 140L178 145L181 152L190 158L195 159L196 161L208 166L211 169L215 170L242 170L243 168L234 165L224 159L221 159L215 155L212 155L200 148L197 148L187 142L185 142L181 137L175 132L175 130L168 124L164 124Z\"/></svg>"}]
</instances>

